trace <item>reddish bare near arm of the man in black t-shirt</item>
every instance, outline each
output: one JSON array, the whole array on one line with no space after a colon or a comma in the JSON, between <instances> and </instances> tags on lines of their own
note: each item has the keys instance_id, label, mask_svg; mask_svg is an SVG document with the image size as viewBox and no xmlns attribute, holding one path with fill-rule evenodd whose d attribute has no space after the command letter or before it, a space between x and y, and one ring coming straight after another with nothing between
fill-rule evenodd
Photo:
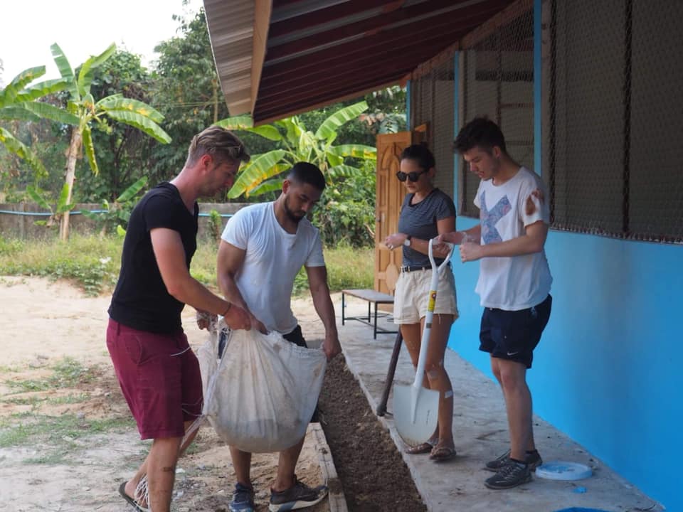
<instances>
[{"instance_id":1,"label":"reddish bare near arm of the man in black t-shirt","mask_svg":"<svg viewBox=\"0 0 683 512\"><path fill-rule=\"evenodd\" d=\"M183 242L177 231L155 228L149 233L152 239L154 257L162 274L166 290L171 296L195 309L213 314L225 314L228 325L233 329L248 329L248 316L240 307L211 293L190 275L185 262Z\"/></svg>"}]
</instances>

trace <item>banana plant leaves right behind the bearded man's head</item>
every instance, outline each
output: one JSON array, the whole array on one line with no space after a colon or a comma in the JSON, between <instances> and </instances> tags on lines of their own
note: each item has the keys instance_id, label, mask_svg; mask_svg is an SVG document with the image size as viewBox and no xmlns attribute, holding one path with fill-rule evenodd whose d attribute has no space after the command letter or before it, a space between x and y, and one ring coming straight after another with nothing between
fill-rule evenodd
<instances>
[{"instance_id":1,"label":"banana plant leaves right behind the bearded man's head","mask_svg":"<svg viewBox=\"0 0 683 512\"><path fill-rule=\"evenodd\" d=\"M341 144L334 146L337 129L343 124L356 119L361 112L367 110L366 102L359 102L337 110L318 127L315 132L306 129L297 116L287 117L273 124L254 127L250 116L228 117L219 121L219 126L227 129L258 134L273 142L280 143L279 149L252 156L243 166L235 183L228 191L228 198L258 196L277 191L282 188L283 171L299 161L308 161L317 165L326 176L328 183L338 178L348 177L361 170L345 164L346 157L362 160L377 159L377 151L364 144Z\"/></svg>"}]
</instances>

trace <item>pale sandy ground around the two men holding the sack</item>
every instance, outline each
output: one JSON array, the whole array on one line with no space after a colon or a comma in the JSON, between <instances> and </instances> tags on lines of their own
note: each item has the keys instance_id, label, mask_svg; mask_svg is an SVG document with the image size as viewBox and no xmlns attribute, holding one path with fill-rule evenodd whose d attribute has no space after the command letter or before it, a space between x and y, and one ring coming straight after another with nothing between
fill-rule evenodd
<instances>
[{"instance_id":1,"label":"pale sandy ground around the two men holding the sack","mask_svg":"<svg viewBox=\"0 0 683 512\"><path fill-rule=\"evenodd\" d=\"M149 444L141 442L129 418L115 380L107 348L108 294L85 297L66 282L34 277L0 277L0 509L14 511L132 510L117 488L144 458ZM337 302L337 301L335 301ZM292 304L305 336L322 336L310 299ZM195 349L206 341L206 331L194 322L194 309L186 307L183 324ZM88 368L87 382L71 388L18 393L9 381L40 380L53 375L53 366L70 357ZM60 400L61 398L61 400ZM76 434L38 441L10 442L8 429L21 433L36 423L75 418ZM115 425L93 432L93 425L112 420ZM31 437L31 439L34 439ZM255 455L252 476L258 510L265 511L268 487L275 475L277 456ZM55 460L57 462L55 462ZM322 476L312 437L297 466L307 484ZM226 511L234 484L227 447L211 427L203 427L198 441L179 462L173 510ZM309 509L326 511L327 503Z\"/></svg>"}]
</instances>

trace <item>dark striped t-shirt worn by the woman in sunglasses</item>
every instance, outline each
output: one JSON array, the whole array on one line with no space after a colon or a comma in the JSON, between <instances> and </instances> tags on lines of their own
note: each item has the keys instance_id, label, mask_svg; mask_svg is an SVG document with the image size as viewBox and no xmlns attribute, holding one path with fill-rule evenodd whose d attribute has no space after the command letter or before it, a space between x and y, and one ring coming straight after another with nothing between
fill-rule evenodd
<instances>
[{"instance_id":1,"label":"dark striped t-shirt worn by the woman in sunglasses","mask_svg":"<svg viewBox=\"0 0 683 512\"><path fill-rule=\"evenodd\" d=\"M406 233L413 238L429 240L439 234L437 221L455 217L455 205L450 197L434 188L417 204L411 204L415 194L406 194L398 217L398 233ZM443 259L435 258L437 265ZM429 256L403 245L403 265L411 267L429 267Z\"/></svg>"}]
</instances>

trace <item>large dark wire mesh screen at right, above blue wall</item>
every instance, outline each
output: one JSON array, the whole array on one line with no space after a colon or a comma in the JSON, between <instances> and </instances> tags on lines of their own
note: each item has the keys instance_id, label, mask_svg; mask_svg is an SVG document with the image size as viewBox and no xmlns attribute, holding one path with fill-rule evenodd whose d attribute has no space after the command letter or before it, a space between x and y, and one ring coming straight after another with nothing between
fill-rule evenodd
<instances>
[{"instance_id":1,"label":"large dark wire mesh screen at right, above blue wall","mask_svg":"<svg viewBox=\"0 0 683 512\"><path fill-rule=\"evenodd\" d=\"M544 9L553 227L681 241L683 2L552 0Z\"/></svg>"}]
</instances>

